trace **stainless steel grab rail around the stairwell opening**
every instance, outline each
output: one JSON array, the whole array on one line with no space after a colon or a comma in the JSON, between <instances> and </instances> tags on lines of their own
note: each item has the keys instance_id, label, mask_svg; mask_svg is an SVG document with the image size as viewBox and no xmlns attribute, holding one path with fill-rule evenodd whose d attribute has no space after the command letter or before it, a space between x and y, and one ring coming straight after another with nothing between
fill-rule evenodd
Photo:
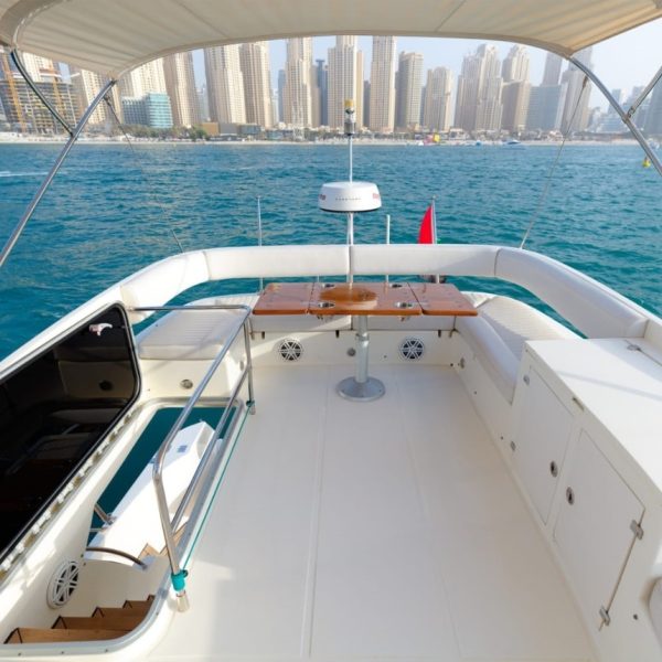
<instances>
[{"instance_id":1,"label":"stainless steel grab rail around the stairwell opening","mask_svg":"<svg viewBox=\"0 0 662 662\"><path fill-rule=\"evenodd\" d=\"M154 483L154 489L157 491L157 503L159 505L159 516L161 517L161 527L163 528L163 538L166 541L166 551L168 553L168 559L170 560L170 578L172 581L172 587L177 594L178 600L178 609L180 611L185 611L189 608L189 598L186 597L186 575L188 572L182 569L180 564L180 558L178 556L177 545L174 542L174 531L181 521L183 513L191 504L195 504L202 491L197 491L199 483L201 477L205 473L207 465L210 462L210 458L214 456L212 452L212 448L215 446L216 441L221 438L220 435L223 431L223 428L227 424L227 419L229 417L229 413L233 410L237 403L237 396L245 381L248 380L248 412L252 414L255 413L255 402L253 394L253 361L250 359L250 329L249 329L249 314L250 307L245 306L243 303L226 303L226 305L211 305L211 306L150 306L150 307L135 307L130 309L132 312L160 312L160 311L195 311L195 310L243 310L244 314L241 318L241 324L237 324L237 328L231 333L227 341L224 343L223 348L210 365L207 372L204 374L200 384L192 393L191 397L186 402L184 408L180 413L178 419L174 421L172 428L163 439L154 460L153 471L152 471L152 480ZM166 460L166 455L170 449L170 446L178 435L178 433L183 427L184 423L189 418L189 415L193 410L193 407L197 404L197 401L201 398L204 389L209 385L210 381L214 376L214 373L223 363L225 355L229 351L229 348L233 345L234 341L239 334L241 330L244 330L244 348L246 351L246 365L242 370L242 374L235 384L231 396L227 398L227 406L218 420L214 429L214 434L212 436L212 440L207 445L205 452L203 453L197 469L193 474L184 495L180 502L180 505L174 514L172 521L170 520L170 512L168 508L168 500L166 498L166 490L163 488L163 462ZM234 426L233 426L234 430Z\"/></svg>"}]
</instances>

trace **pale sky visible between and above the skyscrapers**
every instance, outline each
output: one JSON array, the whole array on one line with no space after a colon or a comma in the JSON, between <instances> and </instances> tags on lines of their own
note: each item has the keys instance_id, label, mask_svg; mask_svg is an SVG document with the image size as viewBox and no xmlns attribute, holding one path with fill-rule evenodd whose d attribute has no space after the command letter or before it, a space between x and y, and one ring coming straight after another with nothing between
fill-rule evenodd
<instances>
[{"instance_id":1,"label":"pale sky visible between and above the skyscrapers","mask_svg":"<svg viewBox=\"0 0 662 662\"><path fill-rule=\"evenodd\" d=\"M271 58L273 87L278 86L278 70L285 63L285 41L273 41L269 44ZM335 38L320 36L312 40L313 58L328 60L328 50L335 43ZM462 66L465 55L474 52L483 40L434 39L434 38L397 38L397 52L415 51L423 54L424 84L425 72L436 66L446 66L457 76ZM491 42L498 46L503 60L511 45L505 42ZM370 78L372 56L372 38L360 36L359 47L364 53L364 75ZM531 57L531 82L538 85L545 66L546 52L528 47ZM204 64L202 52L194 54L195 77L199 84L204 82ZM648 25L636 28L594 46L594 71L609 89L630 90L636 85L645 85L662 65L662 19ZM590 99L591 106L606 108L608 103L595 89Z\"/></svg>"}]
</instances>

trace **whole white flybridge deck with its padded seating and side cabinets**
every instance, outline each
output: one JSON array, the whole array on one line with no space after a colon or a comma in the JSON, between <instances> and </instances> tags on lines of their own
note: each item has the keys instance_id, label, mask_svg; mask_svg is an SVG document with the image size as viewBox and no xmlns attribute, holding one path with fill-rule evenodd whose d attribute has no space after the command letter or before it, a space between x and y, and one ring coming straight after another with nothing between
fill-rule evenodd
<instances>
[{"instance_id":1,"label":"whole white flybridge deck with its padded seating and side cabinets","mask_svg":"<svg viewBox=\"0 0 662 662\"><path fill-rule=\"evenodd\" d=\"M477 316L367 314L363 327L345 314L249 316L255 295L166 307L134 339L136 406L55 516L13 554L0 612L4 638L21 643L0 647L0 656L656 662L662 479L654 438L642 435L659 425L634 426L628 414L659 418L662 323L559 263L499 246L192 252L103 292L2 370L113 301L138 322L205 280L310 284L313 273L338 278L350 265L366 276L502 278L587 338L521 301L477 292L466 292ZM370 372L386 386L374 402L337 392L356 364L361 328ZM87 557L71 600L46 605L43 587L60 564L85 555L96 499L121 458L159 407L192 407L203 383L210 405L235 402L239 415L207 445L177 506L185 528L177 513L163 521L181 531L171 560L160 545L137 563ZM628 410L611 405L623 402ZM35 579L11 580L29 567ZM185 606L181 568L188 611L177 610L175 594ZM120 609L150 595L129 633L103 632L103 643L53 634L57 613L89 624L99 605Z\"/></svg>"}]
</instances>

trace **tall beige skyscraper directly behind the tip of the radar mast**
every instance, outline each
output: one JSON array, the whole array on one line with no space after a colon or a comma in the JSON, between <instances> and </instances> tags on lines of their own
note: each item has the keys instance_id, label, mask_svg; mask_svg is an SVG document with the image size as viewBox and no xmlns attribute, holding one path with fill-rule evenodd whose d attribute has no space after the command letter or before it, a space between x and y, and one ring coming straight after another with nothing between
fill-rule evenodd
<instances>
[{"instance_id":1,"label":"tall beige skyscraper directly behind the tip of the radar mast","mask_svg":"<svg viewBox=\"0 0 662 662\"><path fill-rule=\"evenodd\" d=\"M355 36L337 36L329 49L328 120L333 129L344 124L344 103L353 99L356 128L363 126L363 53L356 49Z\"/></svg>"}]
</instances>

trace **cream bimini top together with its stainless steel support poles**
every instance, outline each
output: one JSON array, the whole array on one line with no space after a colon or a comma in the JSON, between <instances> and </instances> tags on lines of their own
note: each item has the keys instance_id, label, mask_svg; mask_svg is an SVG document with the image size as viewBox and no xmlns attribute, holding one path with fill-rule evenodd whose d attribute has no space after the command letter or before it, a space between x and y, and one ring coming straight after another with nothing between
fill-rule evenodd
<instances>
[{"instance_id":1,"label":"cream bimini top together with its stainless steel support poles","mask_svg":"<svg viewBox=\"0 0 662 662\"><path fill-rule=\"evenodd\" d=\"M270 12L276 11L276 3L270 2L270 0L252 0L252 11L255 10L255 7L253 7L254 4L260 6L263 11L261 13L257 12L257 20L255 21L255 17L253 17L248 10L246 15L242 12L242 15L244 15L247 21L246 24L243 25L242 31L237 32L237 34L241 33L243 36L235 39L227 33L217 32L212 40L211 34L214 32L214 25L216 25L216 23L213 21L209 24L205 23L206 29L202 30L197 19L202 15L206 15L205 11L207 13L212 12L216 20L221 20L221 17L225 19L226 14L222 11L222 6L229 0L196 0L196 15L193 23L201 30L200 34L196 36L197 41L186 41L193 39L193 32L191 32L193 26L189 24L191 23L191 17L189 15L188 22L184 21L182 24L173 22L170 24L168 31L168 34L171 38L173 36L173 33L177 34L175 42L181 42L181 44L174 47L170 44L169 47L157 51L152 49L158 47L157 44L159 43L158 38L160 32L152 29L147 30L148 26L143 26L146 30L141 32L140 21L147 15L150 17L150 20L157 20L157 18L161 20L168 18L169 12L170 18L174 19L175 14L178 14L182 8L188 8L189 4L185 0L143 0L141 10L145 9L146 4L153 4L157 1L159 4L158 11L154 10L153 13L141 11L139 15L132 17L131 24L136 29L131 30L130 33L127 33L122 29L124 36L121 36L113 32L113 25L117 23L117 15L130 11L130 9L124 4L120 6L116 0L107 0L106 2L94 4L87 2L85 7L82 7L84 0L68 0L67 2L63 2L63 0L33 0L29 3L15 2L15 0L0 0L0 44L7 43L14 45L14 47L12 47L12 58L17 63L19 71L25 77L30 87L34 89L38 96L43 100L44 105L53 114L55 119L70 132L70 140L2 248L2 252L0 253L0 267L2 267L7 260L7 257L18 242L28 221L30 221L34 210L46 192L51 181L55 177L55 173L62 166L74 142L81 135L81 131L87 124L90 115L117 81L116 73L115 75L111 75L108 83L106 83L97 97L92 102L89 108L87 108L81 118L81 121L72 130L43 95L38 92L36 86L30 79L30 76L18 57L15 44L23 43L28 49L35 53L56 56L70 64L74 63L82 66L88 66L88 68L95 71L108 72L107 66L104 67L100 63L90 60L92 54L103 51L99 42L89 41L89 20L92 20L99 30L99 39L103 40L107 38L108 34L114 34L116 41L113 43L111 52L108 53L110 63L114 63L110 66L115 66L115 72L119 71L119 73L122 73L153 57L185 50L186 47L201 47L204 45L235 43L237 41L300 36L301 34L308 34L310 25L317 23L316 20L307 20L307 17L310 19L310 9L313 8L314 11L317 11L319 9L317 6L320 4L318 0L292 0L293 4L303 2L301 11L290 11L284 17L279 17L279 20L282 22L282 30L280 32L265 33L261 31L273 30L274 28L274 23L269 23L268 21L265 22L265 15L270 15ZM247 2L248 0L244 1ZM231 23L232 20L236 21L237 18L236 0L233 0L233 2L235 11L231 11L227 14ZM242 0L239 0L239 2L242 2ZM334 2L333 17L329 17L327 11L320 11L318 13L314 13L313 11L312 17L320 15L323 21L319 24L319 28L312 32L317 34L328 34L329 26L335 25L337 30L331 31L334 34L416 34L420 36L435 35L506 40L540 46L565 56L578 70L584 72L587 78L592 81L602 92L609 104L618 113L637 141L641 145L643 151L654 164L660 175L662 175L662 163L660 162L660 159L637 125L632 121L632 116L637 108L647 98L660 78L662 78L662 67L660 67L652 81L647 85L645 89L632 107L624 111L596 74L573 56L573 53L577 50L584 49L604 39L615 36L616 34L639 24L662 18L662 0L655 0L654 3L651 3L650 0L629 0L628 3L623 3L621 0L583 0L581 2L577 2L577 0L492 0L489 11L485 8L484 0L440 0L438 10L441 11L444 15L439 17L439 19L442 18L442 20L435 30L430 29L430 24L435 24L435 21L430 22L429 15L423 11L423 7L421 11L413 11L414 8L412 7L412 3L426 3L426 9L429 9L427 0L410 0L410 2L407 3L406 11L402 15L401 9L398 9L402 3L384 3L383 0L364 0L366 4L370 4L371 2L376 2L378 4L378 7L375 7L374 12L367 12L367 15L372 19L371 24L376 25L374 29L370 30L365 29L365 25L356 17L355 11L349 11L348 8L349 13L342 13L341 6L346 4L346 2L348 0L337 0L337 2ZM28 6L30 11L26 9ZM39 11L35 10L35 7L38 6L42 6ZM328 4L324 4L324 9L328 9ZM444 7L446 7L446 10L442 11L441 8ZM605 13L604 15L600 13L607 12L607 10L609 10L608 13ZM72 11L75 15L71 14ZM104 13L107 11L110 11L110 14L106 15L106 13ZM191 12L192 10L189 8L186 11ZM340 14L338 13L339 11ZM24 12L24 15L22 15L22 12ZM72 34L77 34L76 25L81 20L81 17L77 15L76 12L85 17L83 36L78 35L79 39L84 38L82 43L72 39ZM61 24L61 13L67 14L71 20L71 24L66 25L64 32L64 40L61 39L60 32L57 31L57 28L60 28L60 30L63 29L63 25ZM108 22L107 24L103 22L99 23L100 14L105 15L105 20ZM22 15L22 19L19 21L17 19L20 15ZM49 15L51 15L53 21L53 24L51 25L53 32L50 31L51 29L46 29L46 26L43 25L44 29L49 30L46 38L39 26L42 25L44 17L47 18ZM366 12L361 13L361 17L364 15L366 15ZM291 17L297 17L297 21L290 23ZM423 17L424 20L417 22L420 20L420 17ZM136 21L138 21L138 23L136 23ZM211 21L211 19L209 19L209 21ZM389 30L385 30L384 25L388 25ZM583 34L581 29L588 30L589 36L586 34L580 36ZM204 38L202 36L203 34L205 35ZM34 47L32 47L32 40L35 39L36 35L45 39L44 45L40 46L38 42L34 42ZM131 44L129 44L125 39L127 35L132 35L134 38L139 35L139 39L136 43L131 42ZM58 44L57 46L54 45L53 40ZM66 44L70 44L70 46L66 46ZM85 50L85 45L87 46L87 50ZM126 51L126 49L129 49L129 45L131 46L130 53L128 51L124 52L122 47Z\"/></svg>"}]
</instances>

